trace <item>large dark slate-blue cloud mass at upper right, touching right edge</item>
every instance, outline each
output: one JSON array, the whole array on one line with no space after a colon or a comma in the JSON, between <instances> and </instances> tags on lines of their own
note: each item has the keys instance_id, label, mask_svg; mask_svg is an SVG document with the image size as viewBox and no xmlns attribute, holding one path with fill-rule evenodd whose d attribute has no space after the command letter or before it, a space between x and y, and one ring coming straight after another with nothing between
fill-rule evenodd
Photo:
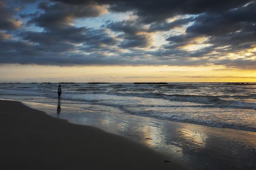
<instances>
[{"instance_id":1,"label":"large dark slate-blue cloud mass at upper right, touching right edge","mask_svg":"<svg viewBox=\"0 0 256 170\"><path fill-rule=\"evenodd\" d=\"M191 36L211 36L205 43L238 45L244 42L255 42L256 36L256 2L245 7L226 11L222 14L201 14L194 19L195 23L186 30L187 34L171 36L167 41L187 42Z\"/></svg>"}]
</instances>

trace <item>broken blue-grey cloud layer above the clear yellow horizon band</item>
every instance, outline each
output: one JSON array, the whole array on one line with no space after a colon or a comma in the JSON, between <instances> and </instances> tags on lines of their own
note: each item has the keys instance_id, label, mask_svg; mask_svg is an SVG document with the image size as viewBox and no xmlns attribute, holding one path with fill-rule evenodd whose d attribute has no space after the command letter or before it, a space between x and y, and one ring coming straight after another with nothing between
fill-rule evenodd
<instances>
[{"instance_id":1,"label":"broken blue-grey cloud layer above the clear yellow horizon band","mask_svg":"<svg viewBox=\"0 0 256 170\"><path fill-rule=\"evenodd\" d=\"M255 1L12 2L0 0L0 63L255 69ZM37 9L19 12L29 3L36 3ZM131 15L122 21L110 19L99 28L76 26L76 19L95 19L107 9ZM43 31L29 30L33 26ZM157 34L166 44L155 44ZM191 45L198 47L189 50Z\"/></svg>"}]
</instances>

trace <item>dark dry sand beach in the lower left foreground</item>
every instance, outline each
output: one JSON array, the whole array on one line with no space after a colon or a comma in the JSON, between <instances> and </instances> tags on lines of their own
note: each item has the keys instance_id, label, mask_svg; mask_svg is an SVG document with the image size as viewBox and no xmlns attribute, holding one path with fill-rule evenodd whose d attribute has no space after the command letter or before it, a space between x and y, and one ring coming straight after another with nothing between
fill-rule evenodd
<instances>
[{"instance_id":1,"label":"dark dry sand beach in the lower left foreground","mask_svg":"<svg viewBox=\"0 0 256 170\"><path fill-rule=\"evenodd\" d=\"M69 123L18 101L0 100L0 122L4 169L187 169L130 138Z\"/></svg>"}]
</instances>

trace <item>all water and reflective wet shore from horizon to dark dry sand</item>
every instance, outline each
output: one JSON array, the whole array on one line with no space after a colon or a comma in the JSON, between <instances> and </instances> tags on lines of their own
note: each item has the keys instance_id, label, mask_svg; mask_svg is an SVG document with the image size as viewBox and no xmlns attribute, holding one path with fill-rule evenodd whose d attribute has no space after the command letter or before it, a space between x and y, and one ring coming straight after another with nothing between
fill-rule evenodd
<instances>
[{"instance_id":1,"label":"all water and reflective wet shore from horizon to dark dry sand","mask_svg":"<svg viewBox=\"0 0 256 170\"><path fill-rule=\"evenodd\" d=\"M191 169L256 169L256 85L227 83L1 83L0 99L167 150Z\"/></svg>"}]
</instances>

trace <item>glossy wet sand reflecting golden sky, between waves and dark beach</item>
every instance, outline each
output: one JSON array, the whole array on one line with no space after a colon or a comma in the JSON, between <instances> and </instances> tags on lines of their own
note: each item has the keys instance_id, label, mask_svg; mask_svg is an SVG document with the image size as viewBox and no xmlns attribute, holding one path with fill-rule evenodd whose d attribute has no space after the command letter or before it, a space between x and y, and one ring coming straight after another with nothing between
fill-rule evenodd
<instances>
[{"instance_id":1,"label":"glossy wet sand reflecting golden sky, between waves and dark beach","mask_svg":"<svg viewBox=\"0 0 256 170\"><path fill-rule=\"evenodd\" d=\"M256 168L256 132L122 115L109 110L88 111L81 107L66 107L65 103L61 105L64 110L59 117L62 119L96 126L143 142L190 169ZM36 105L37 109L40 107L43 107L42 110L54 109L46 111L58 116L55 106Z\"/></svg>"}]
</instances>

